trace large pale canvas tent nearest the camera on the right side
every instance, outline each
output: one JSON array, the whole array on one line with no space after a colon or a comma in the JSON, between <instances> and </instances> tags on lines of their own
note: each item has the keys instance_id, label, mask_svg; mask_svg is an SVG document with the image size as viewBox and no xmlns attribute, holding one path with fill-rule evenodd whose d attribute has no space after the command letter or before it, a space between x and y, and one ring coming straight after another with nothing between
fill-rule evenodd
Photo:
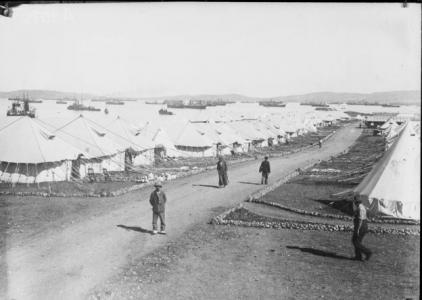
<instances>
[{"instance_id":1,"label":"large pale canvas tent nearest the camera on the right side","mask_svg":"<svg viewBox=\"0 0 422 300\"><path fill-rule=\"evenodd\" d=\"M354 193L375 214L420 219L420 137L406 125Z\"/></svg>"}]
</instances>

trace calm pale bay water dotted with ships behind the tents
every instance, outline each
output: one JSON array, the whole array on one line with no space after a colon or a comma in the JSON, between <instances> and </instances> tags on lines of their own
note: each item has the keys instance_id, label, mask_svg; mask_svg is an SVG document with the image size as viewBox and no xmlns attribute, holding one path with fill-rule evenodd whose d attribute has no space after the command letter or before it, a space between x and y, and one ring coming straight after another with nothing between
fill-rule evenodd
<instances>
[{"instance_id":1,"label":"calm pale bay water dotted with ships behind the tents","mask_svg":"<svg viewBox=\"0 0 422 300\"><path fill-rule=\"evenodd\" d=\"M7 109L10 108L12 101L0 99L0 125L7 124L13 117L7 117ZM36 108L37 118L48 121L48 119L70 120L77 117L81 112L71 111L67 109L68 104L57 104L56 101L44 100L43 103L31 103ZM241 118L257 118L264 116L286 116L294 118L296 115L303 116L307 113L315 111L314 107L299 105L298 103L288 103L285 108L263 107L257 103L234 103L226 106L208 107L205 110L197 109L171 109L173 116L159 115L158 110L163 105L151 105L143 102L125 102L124 105L106 105L104 102L84 101L84 105L92 105L100 108L99 112L84 111L83 115L101 124L107 124L114 120L117 116L122 117L134 124L143 124L148 121L167 121L167 120L221 120L224 118L241 119ZM358 111L362 113L373 112L399 112L402 114L420 114L418 106L401 106L381 107L381 106L364 106L364 105L333 105L341 111ZM104 113L104 109L109 110L109 114ZM321 113L321 112L318 112Z\"/></svg>"}]
</instances>

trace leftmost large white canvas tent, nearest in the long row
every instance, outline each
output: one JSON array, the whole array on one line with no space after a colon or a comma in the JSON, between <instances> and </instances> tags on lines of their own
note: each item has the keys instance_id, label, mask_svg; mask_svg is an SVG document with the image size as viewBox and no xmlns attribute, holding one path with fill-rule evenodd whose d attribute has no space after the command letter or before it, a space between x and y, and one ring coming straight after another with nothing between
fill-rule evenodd
<instances>
[{"instance_id":1,"label":"leftmost large white canvas tent, nearest in the long row","mask_svg":"<svg viewBox=\"0 0 422 300\"><path fill-rule=\"evenodd\" d=\"M86 154L29 117L0 129L0 181L35 183L69 180L71 160Z\"/></svg>"}]
</instances>

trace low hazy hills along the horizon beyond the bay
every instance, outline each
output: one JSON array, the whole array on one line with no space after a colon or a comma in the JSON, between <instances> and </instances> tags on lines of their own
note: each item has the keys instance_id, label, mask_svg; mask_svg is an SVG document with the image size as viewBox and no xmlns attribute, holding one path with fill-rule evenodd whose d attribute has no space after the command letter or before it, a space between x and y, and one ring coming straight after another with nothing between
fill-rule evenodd
<instances>
[{"instance_id":1,"label":"low hazy hills along the horizon beyond the bay","mask_svg":"<svg viewBox=\"0 0 422 300\"><path fill-rule=\"evenodd\" d=\"M89 93L62 92L53 90L16 90L0 92L0 98L22 96L24 93L35 99L56 100L62 98L92 99L106 97L104 95L94 95ZM199 94L199 95L176 95L161 97L116 97L119 99L131 99L140 101L176 101L176 100L222 100L235 102L256 102L264 100L282 102L314 102L314 103L379 103L379 104L421 104L421 91L389 91L374 93L336 93L336 92L316 92L302 95L289 95L278 97L249 97L241 94Z\"/></svg>"}]
</instances>

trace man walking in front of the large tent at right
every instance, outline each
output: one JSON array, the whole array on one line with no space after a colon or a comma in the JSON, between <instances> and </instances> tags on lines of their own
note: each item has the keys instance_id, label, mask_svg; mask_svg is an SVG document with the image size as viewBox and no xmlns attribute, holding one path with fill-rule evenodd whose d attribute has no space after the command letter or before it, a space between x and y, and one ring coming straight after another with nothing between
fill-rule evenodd
<instances>
[{"instance_id":1,"label":"man walking in front of the large tent at right","mask_svg":"<svg viewBox=\"0 0 422 300\"><path fill-rule=\"evenodd\" d=\"M354 219L353 219L353 237L352 243L355 247L355 260L363 260L362 254L365 254L365 259L369 260L372 255L372 251L362 245L362 240L365 234L368 232L368 218L366 208L362 204L362 201L355 196L353 200L354 208Z\"/></svg>"}]
</instances>

